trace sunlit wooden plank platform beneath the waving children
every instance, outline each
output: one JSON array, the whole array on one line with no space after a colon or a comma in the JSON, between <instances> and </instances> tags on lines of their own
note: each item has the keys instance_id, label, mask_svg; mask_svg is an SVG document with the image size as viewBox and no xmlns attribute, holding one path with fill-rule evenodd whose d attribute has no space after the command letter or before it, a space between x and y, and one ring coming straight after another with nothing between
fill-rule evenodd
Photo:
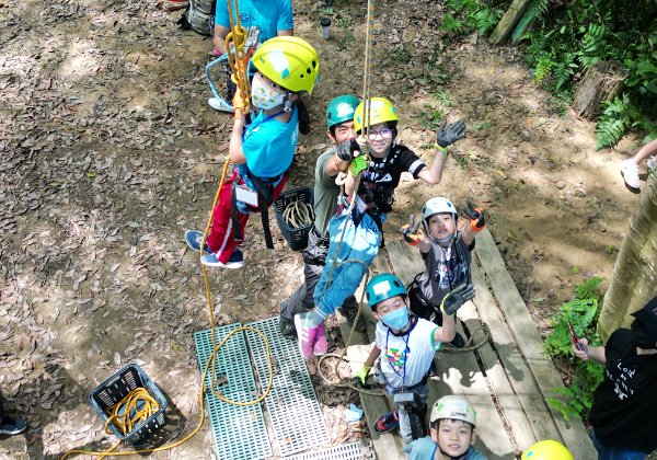
<instances>
[{"instance_id":1,"label":"sunlit wooden plank platform beneath the waving children","mask_svg":"<svg viewBox=\"0 0 657 460\"><path fill-rule=\"evenodd\" d=\"M418 251L401 241L388 243L372 266L373 273L395 273L405 284L423 269ZM539 332L487 230L476 237L472 272L476 297L459 310L458 329L465 338L474 334L479 343L484 326L489 338L474 352L437 354L438 376L429 383L429 406L445 394L468 398L477 412L475 446L489 459L515 459L542 439L564 442L576 459L596 458L581 422L566 423L545 402L548 396L555 398L551 389L563 387L561 377L544 355ZM368 318L369 336L358 334L353 344L373 342L374 320L367 310L361 309ZM346 337L349 330L344 320L341 329ZM371 427L389 410L388 401L382 396L361 400ZM403 458L397 435L370 432L380 460Z\"/></svg>"}]
</instances>

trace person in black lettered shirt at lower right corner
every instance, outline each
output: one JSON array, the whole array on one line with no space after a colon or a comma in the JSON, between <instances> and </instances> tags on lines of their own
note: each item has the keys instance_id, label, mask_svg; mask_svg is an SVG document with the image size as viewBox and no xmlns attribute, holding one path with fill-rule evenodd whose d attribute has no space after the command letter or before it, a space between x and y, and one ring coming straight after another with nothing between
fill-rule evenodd
<instances>
[{"instance_id":1,"label":"person in black lettered shirt at lower right corner","mask_svg":"<svg viewBox=\"0 0 657 460\"><path fill-rule=\"evenodd\" d=\"M632 315L631 329L607 345L573 346L579 359L604 365L589 415L599 460L646 459L657 449L657 297Z\"/></svg>"}]
</instances>

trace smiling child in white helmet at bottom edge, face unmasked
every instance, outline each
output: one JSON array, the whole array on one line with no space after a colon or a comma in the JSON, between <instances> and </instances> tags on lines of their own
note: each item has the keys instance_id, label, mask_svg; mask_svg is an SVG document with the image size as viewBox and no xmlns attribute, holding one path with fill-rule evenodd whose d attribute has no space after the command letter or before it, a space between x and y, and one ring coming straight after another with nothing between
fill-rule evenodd
<instances>
[{"instance_id":1,"label":"smiling child in white helmet at bottom edge, face unmasked","mask_svg":"<svg viewBox=\"0 0 657 460\"><path fill-rule=\"evenodd\" d=\"M434 404L431 436L404 447L407 460L486 460L476 450L476 414L463 396L447 395Z\"/></svg>"}]
</instances>

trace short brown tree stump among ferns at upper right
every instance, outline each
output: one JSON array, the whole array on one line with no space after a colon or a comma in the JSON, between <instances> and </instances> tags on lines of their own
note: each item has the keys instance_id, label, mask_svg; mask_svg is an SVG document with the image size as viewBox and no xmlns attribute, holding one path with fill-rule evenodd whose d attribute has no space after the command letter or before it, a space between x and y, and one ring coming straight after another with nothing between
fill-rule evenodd
<instances>
[{"instance_id":1,"label":"short brown tree stump among ferns at upper right","mask_svg":"<svg viewBox=\"0 0 657 460\"><path fill-rule=\"evenodd\" d=\"M586 119L596 119L600 103L619 95L626 78L627 72L618 62L602 61L589 67L575 94L575 113Z\"/></svg>"}]
</instances>

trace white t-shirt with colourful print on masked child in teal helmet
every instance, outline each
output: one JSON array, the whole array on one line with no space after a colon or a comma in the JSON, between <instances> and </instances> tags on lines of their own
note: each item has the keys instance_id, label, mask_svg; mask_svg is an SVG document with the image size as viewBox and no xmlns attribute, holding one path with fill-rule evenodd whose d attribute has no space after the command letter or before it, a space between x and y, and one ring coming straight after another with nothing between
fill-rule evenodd
<instances>
[{"instance_id":1,"label":"white t-shirt with colourful print on masked child in teal helmet","mask_svg":"<svg viewBox=\"0 0 657 460\"><path fill-rule=\"evenodd\" d=\"M390 387L412 387L422 381L440 349L440 342L434 344L437 327L420 318L411 333L397 337L382 321L377 323L374 344L381 350L381 371Z\"/></svg>"}]
</instances>

